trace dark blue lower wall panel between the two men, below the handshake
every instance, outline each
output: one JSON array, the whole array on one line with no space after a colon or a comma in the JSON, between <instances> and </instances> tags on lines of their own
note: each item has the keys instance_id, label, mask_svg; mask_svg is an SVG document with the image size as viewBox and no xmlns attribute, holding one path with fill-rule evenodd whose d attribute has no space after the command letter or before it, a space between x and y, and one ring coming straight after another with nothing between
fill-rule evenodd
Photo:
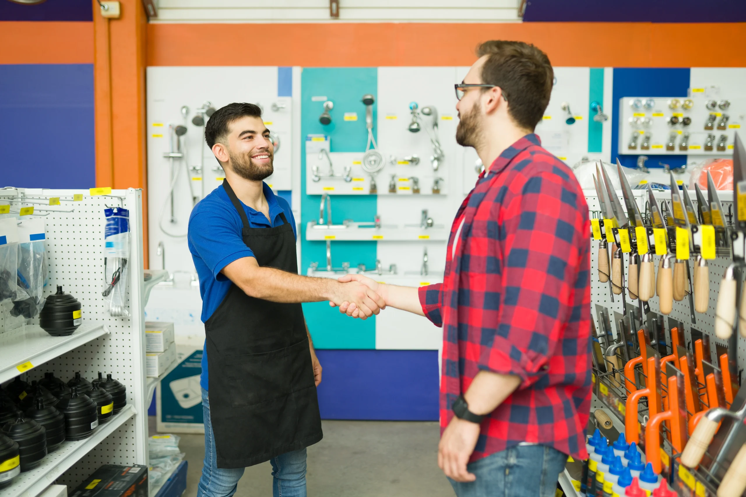
<instances>
[{"instance_id":1,"label":"dark blue lower wall panel between the two men, below the handshake","mask_svg":"<svg viewBox=\"0 0 746 497\"><path fill-rule=\"evenodd\" d=\"M438 420L438 351L319 350L325 420Z\"/></svg>"}]
</instances>

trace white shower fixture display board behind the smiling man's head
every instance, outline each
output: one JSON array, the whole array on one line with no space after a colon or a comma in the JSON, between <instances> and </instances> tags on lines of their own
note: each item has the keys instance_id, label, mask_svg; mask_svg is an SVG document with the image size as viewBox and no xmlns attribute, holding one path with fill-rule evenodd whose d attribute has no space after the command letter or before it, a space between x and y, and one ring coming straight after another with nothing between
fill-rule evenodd
<instances>
[{"instance_id":1,"label":"white shower fixture display board behind the smiling man's head","mask_svg":"<svg viewBox=\"0 0 746 497\"><path fill-rule=\"evenodd\" d=\"M292 68L148 67L147 85L151 267L160 268L156 251L158 243L163 241L167 268L172 272L193 272L192 256L186 246L189 213L197 201L222 183L225 176L204 142L204 125L199 123L200 118L207 122L208 116L201 110L210 104L213 109L219 109L231 102L249 102L263 107L266 127L277 136L280 144L275 148L275 173L265 181L275 191L289 190L292 188L293 152ZM185 106L186 112L182 113ZM177 137L176 126L185 127L186 133ZM176 156L164 156L169 153ZM169 195L173 177L176 180L173 186L174 222L171 222L172 200ZM164 229L170 235L166 235Z\"/></svg>"}]
</instances>

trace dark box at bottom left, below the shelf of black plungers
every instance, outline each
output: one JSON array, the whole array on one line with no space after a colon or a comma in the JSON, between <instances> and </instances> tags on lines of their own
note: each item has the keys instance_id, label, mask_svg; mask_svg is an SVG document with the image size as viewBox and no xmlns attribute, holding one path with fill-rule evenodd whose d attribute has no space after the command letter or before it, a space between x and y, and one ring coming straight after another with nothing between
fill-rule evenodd
<instances>
[{"instance_id":1,"label":"dark box at bottom left, below the shelf of black plungers","mask_svg":"<svg viewBox=\"0 0 746 497\"><path fill-rule=\"evenodd\" d=\"M141 464L104 464L70 497L148 497L148 468Z\"/></svg>"}]
</instances>

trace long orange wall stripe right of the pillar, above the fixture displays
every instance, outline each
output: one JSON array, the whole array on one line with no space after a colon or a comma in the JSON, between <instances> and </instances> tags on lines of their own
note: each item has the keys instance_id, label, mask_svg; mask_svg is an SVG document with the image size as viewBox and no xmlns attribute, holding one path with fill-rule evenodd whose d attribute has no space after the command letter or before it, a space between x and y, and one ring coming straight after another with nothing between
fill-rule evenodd
<instances>
[{"instance_id":1,"label":"long orange wall stripe right of the pillar, above the fixture displays","mask_svg":"<svg viewBox=\"0 0 746 497\"><path fill-rule=\"evenodd\" d=\"M555 66L746 66L746 23L647 22L149 24L147 63L469 66L486 39L534 43Z\"/></svg>"}]
</instances>

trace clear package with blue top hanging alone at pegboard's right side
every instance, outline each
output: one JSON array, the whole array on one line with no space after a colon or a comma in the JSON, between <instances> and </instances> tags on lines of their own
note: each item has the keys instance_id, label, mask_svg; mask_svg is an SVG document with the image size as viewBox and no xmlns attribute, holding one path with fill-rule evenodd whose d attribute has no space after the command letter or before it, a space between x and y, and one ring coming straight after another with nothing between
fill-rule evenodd
<instances>
[{"instance_id":1,"label":"clear package with blue top hanging alone at pegboard's right side","mask_svg":"<svg viewBox=\"0 0 746 497\"><path fill-rule=\"evenodd\" d=\"M109 314L127 317L128 273L130 256L130 212L122 207L104 209L104 288L101 294Z\"/></svg>"}]
</instances>

